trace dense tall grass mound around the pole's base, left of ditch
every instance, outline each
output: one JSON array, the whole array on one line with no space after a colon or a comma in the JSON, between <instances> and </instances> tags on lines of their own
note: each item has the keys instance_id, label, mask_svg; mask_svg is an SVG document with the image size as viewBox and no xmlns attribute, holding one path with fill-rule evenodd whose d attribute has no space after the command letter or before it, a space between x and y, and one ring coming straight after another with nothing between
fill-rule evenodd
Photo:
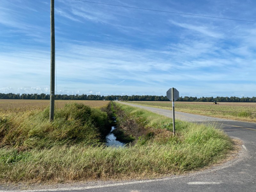
<instances>
[{"instance_id":1,"label":"dense tall grass mound around the pole's base, left of ditch","mask_svg":"<svg viewBox=\"0 0 256 192\"><path fill-rule=\"evenodd\" d=\"M55 111L49 122L49 107L17 116L0 116L0 147L11 146L21 151L51 148L55 145L95 145L109 131L106 112L84 104L70 103Z\"/></svg>"}]
</instances>

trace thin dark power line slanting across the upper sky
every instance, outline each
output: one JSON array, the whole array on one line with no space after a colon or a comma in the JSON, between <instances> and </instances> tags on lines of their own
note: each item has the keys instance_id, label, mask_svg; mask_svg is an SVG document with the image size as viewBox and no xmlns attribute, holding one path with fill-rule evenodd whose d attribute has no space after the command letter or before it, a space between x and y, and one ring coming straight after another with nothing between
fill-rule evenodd
<instances>
[{"instance_id":1,"label":"thin dark power line slanting across the upper sky","mask_svg":"<svg viewBox=\"0 0 256 192\"><path fill-rule=\"evenodd\" d=\"M139 7L129 7L129 6L123 6L123 5L114 5L114 4L98 3L98 2L83 1L83 0L75 0L75 1L82 1L82 2L86 2L86 3L94 3L94 4L102 4L102 5L111 5L111 6L117 6L117 7L126 7L126 8L132 8L132 9L142 9L142 10L148 10L148 11L173 13L173 14L180 14L180 15L190 15L190 16L197 16L197 17L208 17L208 18L215 18L215 19L226 19L226 20L235 20L235 21L244 21L244 22L256 23L256 21L249 21L249 20L239 20L239 19L230 19L230 18L223 18L223 17L212 17L212 16L206 16L206 15L195 15L195 14L188 14L188 13L161 11L161 10L155 10L155 9L145 9L145 8L139 8Z\"/></svg>"}]
</instances>

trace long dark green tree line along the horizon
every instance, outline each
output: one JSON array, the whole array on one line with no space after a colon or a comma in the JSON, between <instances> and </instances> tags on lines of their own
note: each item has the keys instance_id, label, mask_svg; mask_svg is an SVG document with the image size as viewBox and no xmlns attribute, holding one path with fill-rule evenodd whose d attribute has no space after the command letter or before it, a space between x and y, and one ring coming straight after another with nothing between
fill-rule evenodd
<instances>
[{"instance_id":1,"label":"long dark green tree line along the horizon","mask_svg":"<svg viewBox=\"0 0 256 192\"><path fill-rule=\"evenodd\" d=\"M15 94L15 93L0 93L0 99L35 99L35 100L50 100L50 95L41 94ZM55 95L55 100L124 100L124 101L169 101L166 96L156 96L156 95ZM180 97L176 101L197 101L197 102L256 102L256 97Z\"/></svg>"}]
</instances>

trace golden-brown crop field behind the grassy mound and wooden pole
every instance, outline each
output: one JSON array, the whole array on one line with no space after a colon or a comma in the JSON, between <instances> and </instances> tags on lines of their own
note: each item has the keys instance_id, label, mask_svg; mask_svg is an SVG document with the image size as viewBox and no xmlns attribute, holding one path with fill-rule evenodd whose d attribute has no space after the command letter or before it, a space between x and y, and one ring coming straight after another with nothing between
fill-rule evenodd
<instances>
[{"instance_id":1,"label":"golden-brown crop field behind the grassy mound and wooden pole","mask_svg":"<svg viewBox=\"0 0 256 192\"><path fill-rule=\"evenodd\" d=\"M62 108L67 103L82 103L93 108L106 107L109 101L103 100L55 100L54 107ZM44 110L50 105L50 100L18 100L18 99L1 99L0 112L26 112L31 110Z\"/></svg>"}]
</instances>

